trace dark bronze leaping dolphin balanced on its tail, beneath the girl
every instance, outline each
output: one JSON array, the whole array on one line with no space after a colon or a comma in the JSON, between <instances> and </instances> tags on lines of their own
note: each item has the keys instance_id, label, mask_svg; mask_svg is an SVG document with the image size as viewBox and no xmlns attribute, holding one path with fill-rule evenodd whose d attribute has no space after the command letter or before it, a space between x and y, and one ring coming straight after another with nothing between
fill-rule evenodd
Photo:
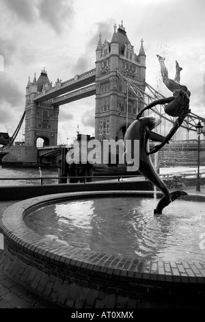
<instances>
[{"instance_id":1,"label":"dark bronze leaping dolphin balanced on its tail, beneath the girl","mask_svg":"<svg viewBox=\"0 0 205 322\"><path fill-rule=\"evenodd\" d=\"M165 137L152 132L152 129L159 125L161 120L156 120L154 117L141 117L128 127L124 136L124 145L125 145L125 156L128 156L132 160L135 158L135 153L133 151L133 143L134 140L139 140L139 173L146 177L150 182L152 182L157 188L159 188L163 193L164 197L161 198L156 209L154 210L154 214L161 214L163 208L169 205L170 202L174 201L180 195L187 195L184 191L176 190L169 193L169 190L159 174L154 169L154 164L152 163L150 154L154 153L150 151L149 147L149 139L163 142L165 141ZM126 145L126 140L131 140L131 151L128 151ZM128 158L126 158L127 160ZM131 160L130 159L130 160ZM134 162L135 163L135 162Z\"/></svg>"}]
</instances>

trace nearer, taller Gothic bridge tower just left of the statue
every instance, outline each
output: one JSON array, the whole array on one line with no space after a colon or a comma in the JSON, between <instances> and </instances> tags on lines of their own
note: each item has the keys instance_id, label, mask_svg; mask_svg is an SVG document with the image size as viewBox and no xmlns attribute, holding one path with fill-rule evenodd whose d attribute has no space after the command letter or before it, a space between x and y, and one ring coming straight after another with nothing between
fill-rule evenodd
<instances>
[{"instance_id":1,"label":"nearer, taller Gothic bridge tower just left of the statue","mask_svg":"<svg viewBox=\"0 0 205 322\"><path fill-rule=\"evenodd\" d=\"M111 42L102 44L100 34L96 48L96 114L95 138L98 140L118 140L124 137L126 128L135 119L143 103L127 90L116 73L116 69L126 78L145 90L146 54L143 40L138 55L128 40L123 22L114 32Z\"/></svg>"}]
</instances>

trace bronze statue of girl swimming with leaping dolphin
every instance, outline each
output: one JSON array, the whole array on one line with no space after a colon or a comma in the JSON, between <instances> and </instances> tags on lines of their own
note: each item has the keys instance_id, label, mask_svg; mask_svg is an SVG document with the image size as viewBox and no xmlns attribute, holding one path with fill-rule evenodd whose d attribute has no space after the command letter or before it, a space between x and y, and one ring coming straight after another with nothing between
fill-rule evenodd
<instances>
[{"instance_id":1,"label":"bronze statue of girl swimming with leaping dolphin","mask_svg":"<svg viewBox=\"0 0 205 322\"><path fill-rule=\"evenodd\" d=\"M159 174L154 169L154 165L152 164L152 160L150 155L156 153L163 147L165 144L169 143L170 138L175 134L178 127L182 125L184 118L191 112L189 109L189 97L191 93L187 89L187 86L183 86L179 84L180 81L180 71L182 68L176 62L176 76L174 79L169 79L167 68L165 66L165 58L162 58L160 55L156 55L161 64L161 75L163 77L163 82L167 86L169 90L173 92L172 97L167 97L164 99L159 99L157 101L153 101L148 104L145 108L143 108L136 117L136 120L131 123L131 125L126 130L124 135L124 144L125 144L125 155L126 153L129 155L129 158L134 160L135 153L131 148L131 151L128 151L128 146L126 149L126 140L130 140L131 146L133 146L135 140L139 140L139 173L146 177L150 182L152 182L159 190L164 193L164 196L160 199L159 203L154 210L154 214L161 214L163 208L169 205L170 202L174 201L181 195L187 195L182 190L175 190L169 192L167 186L159 177ZM161 120L154 119L154 117L150 116L142 116L145 110L152 108L158 104L165 104L165 113L169 114L169 116L177 116L177 119L174 123L174 126L169 131L167 136L161 136L155 132L152 132L152 129L161 123ZM149 140L153 140L155 142L160 142L159 145L155 145L151 150L149 147ZM130 147L130 145L129 145ZM130 148L129 148L130 150ZM135 162L134 162L135 163Z\"/></svg>"}]
</instances>

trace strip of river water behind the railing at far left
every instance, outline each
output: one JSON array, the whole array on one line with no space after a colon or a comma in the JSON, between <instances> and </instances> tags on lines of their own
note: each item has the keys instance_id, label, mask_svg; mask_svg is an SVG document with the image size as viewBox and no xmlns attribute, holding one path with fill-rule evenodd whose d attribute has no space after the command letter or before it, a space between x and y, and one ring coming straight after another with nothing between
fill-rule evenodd
<instances>
[{"instance_id":1,"label":"strip of river water behind the railing at far left","mask_svg":"<svg viewBox=\"0 0 205 322\"><path fill-rule=\"evenodd\" d=\"M57 177L57 169L41 168L42 177ZM1 178L12 178L12 180L1 180ZM15 177L20 177L16 180ZM25 177L36 177L37 179L25 180ZM44 179L43 184L57 183L57 179ZM0 166L0 186L20 186L27 184L40 184L40 171L38 168L2 168Z\"/></svg>"}]
</instances>

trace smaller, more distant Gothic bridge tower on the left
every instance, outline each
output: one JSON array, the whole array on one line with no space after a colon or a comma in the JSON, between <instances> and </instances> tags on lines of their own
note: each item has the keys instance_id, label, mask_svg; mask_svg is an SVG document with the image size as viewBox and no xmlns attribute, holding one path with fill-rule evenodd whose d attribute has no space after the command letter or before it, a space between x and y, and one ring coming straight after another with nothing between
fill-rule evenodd
<instances>
[{"instance_id":1,"label":"smaller, more distant Gothic bridge tower on the left","mask_svg":"<svg viewBox=\"0 0 205 322\"><path fill-rule=\"evenodd\" d=\"M52 87L45 69L36 80L29 82L25 95L25 146L36 147L36 140L42 138L44 146L57 145L57 124L59 106L53 106L51 100L36 103L33 99L37 94L44 93Z\"/></svg>"}]
</instances>

